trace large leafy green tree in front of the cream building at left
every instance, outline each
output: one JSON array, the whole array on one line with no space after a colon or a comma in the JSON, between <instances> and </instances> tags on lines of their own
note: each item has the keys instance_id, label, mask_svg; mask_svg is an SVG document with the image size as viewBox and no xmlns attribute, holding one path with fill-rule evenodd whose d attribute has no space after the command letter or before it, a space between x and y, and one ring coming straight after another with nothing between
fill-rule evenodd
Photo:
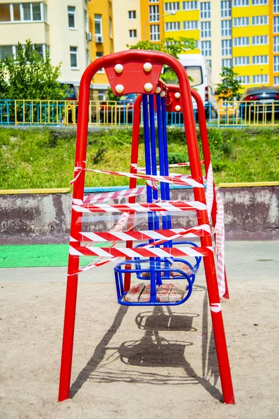
<instances>
[{"instance_id":1,"label":"large leafy green tree in front of the cream building at left","mask_svg":"<svg viewBox=\"0 0 279 419\"><path fill-rule=\"evenodd\" d=\"M0 60L0 97L3 99L59 100L67 85L57 81L61 63L52 66L50 53L41 58L30 40L18 43L17 57Z\"/></svg>"}]
</instances>

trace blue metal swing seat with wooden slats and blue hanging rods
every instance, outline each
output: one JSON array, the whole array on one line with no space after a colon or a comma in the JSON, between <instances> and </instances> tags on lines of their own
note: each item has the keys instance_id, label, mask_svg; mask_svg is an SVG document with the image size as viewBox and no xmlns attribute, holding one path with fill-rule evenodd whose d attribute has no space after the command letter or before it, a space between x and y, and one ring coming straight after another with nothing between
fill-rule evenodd
<instances>
[{"instance_id":1,"label":"blue metal swing seat with wooden slats and blue hanging rods","mask_svg":"<svg viewBox=\"0 0 279 419\"><path fill-rule=\"evenodd\" d=\"M142 100L142 112L144 122L144 157L145 167L140 169L146 175L157 175L158 171L161 176L169 176L169 164L167 155L167 126L166 126L166 91L167 86L160 82L157 87L155 95L142 94L138 98ZM176 94L179 96L180 94ZM167 96L168 97L168 96ZM154 106L154 99L156 106ZM177 106L177 105L176 105ZM180 106L180 105L178 105ZM181 108L181 106L180 106ZM137 112L137 108L135 110ZM157 138L155 121L157 120ZM134 141L137 141L138 138ZM158 149L157 146L158 145ZM135 146L136 147L136 146ZM157 157L159 165L157 166ZM132 163L137 167L137 163ZM176 166L176 165L172 165ZM158 170L159 169L159 170ZM137 168L139 171L139 168ZM152 185L146 186L147 203L167 202L170 200L169 184L165 182L160 183L160 191L157 188L156 182ZM159 201L160 195L160 201ZM177 209L179 210L179 208ZM175 214L175 212L174 212ZM157 212L149 212L148 228L150 231L159 230L160 221L164 230L172 228L172 216L162 214L158 216ZM161 218L161 220L160 220ZM150 233L152 236L152 233ZM171 248L173 247L172 240L163 242L162 244L155 243L155 237L158 233L153 233L153 240L144 244L137 244L135 249L141 247ZM162 241L162 240L161 240ZM197 244L189 241L179 240L175 242L175 246L189 245L197 247ZM134 259L121 262L114 267L114 274L116 280L117 299L119 304L123 305L177 305L186 302L193 290L193 283L195 281L195 274L199 269L199 263L202 260L201 256L195 256L195 265L191 265L189 260L183 258L169 258L156 257L149 259ZM149 284L137 284L131 287L128 291L124 291L125 274L135 274L137 279L146 281L149 279ZM171 279L186 280L186 289L183 291L170 283ZM167 282L167 283L165 283Z\"/></svg>"}]
</instances>

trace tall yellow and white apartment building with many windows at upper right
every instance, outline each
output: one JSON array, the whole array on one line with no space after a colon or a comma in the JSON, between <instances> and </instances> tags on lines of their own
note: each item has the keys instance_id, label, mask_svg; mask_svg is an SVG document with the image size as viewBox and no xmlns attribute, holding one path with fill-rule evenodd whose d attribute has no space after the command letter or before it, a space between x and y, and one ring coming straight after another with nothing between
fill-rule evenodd
<instances>
[{"instance_id":1,"label":"tall yellow and white apartment building with many windows at upper right","mask_svg":"<svg viewBox=\"0 0 279 419\"><path fill-rule=\"evenodd\" d=\"M243 87L279 84L279 0L141 0L142 38L194 38L215 83L234 67Z\"/></svg>"}]
</instances>

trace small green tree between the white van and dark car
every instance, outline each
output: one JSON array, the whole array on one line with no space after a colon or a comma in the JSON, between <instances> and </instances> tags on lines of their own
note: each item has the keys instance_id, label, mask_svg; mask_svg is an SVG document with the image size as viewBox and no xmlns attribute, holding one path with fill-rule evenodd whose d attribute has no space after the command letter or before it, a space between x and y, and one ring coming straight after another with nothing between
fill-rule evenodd
<instances>
[{"instance_id":1,"label":"small green tree between the white van and dark car","mask_svg":"<svg viewBox=\"0 0 279 419\"><path fill-rule=\"evenodd\" d=\"M234 68L222 67L222 73L220 73L222 82L216 84L217 89L215 91L218 98L226 99L227 101L240 98L241 84L236 80L236 75L238 73L234 73Z\"/></svg>"}]
</instances>

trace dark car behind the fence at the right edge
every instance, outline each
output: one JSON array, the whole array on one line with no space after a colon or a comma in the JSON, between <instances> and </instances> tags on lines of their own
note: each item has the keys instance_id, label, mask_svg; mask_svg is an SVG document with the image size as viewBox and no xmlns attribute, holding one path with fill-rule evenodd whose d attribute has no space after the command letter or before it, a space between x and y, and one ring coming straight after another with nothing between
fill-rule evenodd
<instances>
[{"instance_id":1,"label":"dark car behind the fence at the right edge","mask_svg":"<svg viewBox=\"0 0 279 419\"><path fill-rule=\"evenodd\" d=\"M240 98L239 116L244 119L279 116L279 87L249 87Z\"/></svg>"}]
</instances>

